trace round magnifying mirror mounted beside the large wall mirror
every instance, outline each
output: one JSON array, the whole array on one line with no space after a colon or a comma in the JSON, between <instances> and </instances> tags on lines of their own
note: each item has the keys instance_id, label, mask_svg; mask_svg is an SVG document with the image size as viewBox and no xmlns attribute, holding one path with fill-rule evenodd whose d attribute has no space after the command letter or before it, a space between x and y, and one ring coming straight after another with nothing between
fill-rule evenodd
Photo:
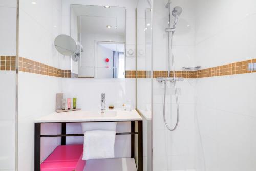
<instances>
[{"instance_id":1,"label":"round magnifying mirror mounted beside the large wall mirror","mask_svg":"<svg viewBox=\"0 0 256 171\"><path fill-rule=\"evenodd\" d=\"M74 55L77 50L75 40L65 34L58 35L54 40L54 45L57 51L65 56Z\"/></svg>"}]
</instances>

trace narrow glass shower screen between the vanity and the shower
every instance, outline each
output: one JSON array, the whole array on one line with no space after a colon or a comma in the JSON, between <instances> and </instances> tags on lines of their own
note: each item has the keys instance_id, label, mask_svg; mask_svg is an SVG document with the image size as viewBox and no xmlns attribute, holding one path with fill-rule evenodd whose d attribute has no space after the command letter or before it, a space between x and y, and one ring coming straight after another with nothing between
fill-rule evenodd
<instances>
[{"instance_id":1,"label":"narrow glass shower screen between the vanity and the shower","mask_svg":"<svg viewBox=\"0 0 256 171\"><path fill-rule=\"evenodd\" d=\"M136 9L137 111L143 118L143 170L152 170L152 19L151 4L139 0Z\"/></svg>"}]
</instances>

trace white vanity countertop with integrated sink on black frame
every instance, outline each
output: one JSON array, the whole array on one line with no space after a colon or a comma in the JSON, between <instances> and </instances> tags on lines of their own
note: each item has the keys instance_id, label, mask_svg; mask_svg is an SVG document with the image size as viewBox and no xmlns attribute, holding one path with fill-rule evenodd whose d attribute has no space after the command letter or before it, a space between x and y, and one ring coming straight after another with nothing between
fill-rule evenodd
<instances>
[{"instance_id":1,"label":"white vanity countertop with integrated sink on black frame","mask_svg":"<svg viewBox=\"0 0 256 171\"><path fill-rule=\"evenodd\" d=\"M100 111L71 111L53 112L49 115L36 119L35 123L61 123L61 122L105 122L105 121L141 121L142 118L136 110L106 110L105 114Z\"/></svg>"}]
</instances>

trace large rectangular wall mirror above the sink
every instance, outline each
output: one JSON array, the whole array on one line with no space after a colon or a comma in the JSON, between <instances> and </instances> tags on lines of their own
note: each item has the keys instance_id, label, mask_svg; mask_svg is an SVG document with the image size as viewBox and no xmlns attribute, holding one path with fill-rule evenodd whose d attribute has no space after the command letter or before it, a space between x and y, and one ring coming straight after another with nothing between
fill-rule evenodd
<instances>
[{"instance_id":1,"label":"large rectangular wall mirror above the sink","mask_svg":"<svg viewBox=\"0 0 256 171\"><path fill-rule=\"evenodd\" d=\"M78 78L125 78L126 9L71 5L70 10L70 36L83 47L80 59L71 60L71 72Z\"/></svg>"}]
</instances>

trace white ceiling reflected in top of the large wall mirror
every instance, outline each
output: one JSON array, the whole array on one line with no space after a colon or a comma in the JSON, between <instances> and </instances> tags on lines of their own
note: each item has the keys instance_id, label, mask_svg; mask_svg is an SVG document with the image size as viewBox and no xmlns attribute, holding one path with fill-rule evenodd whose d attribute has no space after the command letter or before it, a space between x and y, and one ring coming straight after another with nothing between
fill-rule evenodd
<instances>
[{"instance_id":1,"label":"white ceiling reflected in top of the large wall mirror","mask_svg":"<svg viewBox=\"0 0 256 171\"><path fill-rule=\"evenodd\" d=\"M126 12L124 7L71 5L71 8L77 16L81 16L83 32L125 36ZM112 28L107 28L107 25L111 25Z\"/></svg>"}]
</instances>

